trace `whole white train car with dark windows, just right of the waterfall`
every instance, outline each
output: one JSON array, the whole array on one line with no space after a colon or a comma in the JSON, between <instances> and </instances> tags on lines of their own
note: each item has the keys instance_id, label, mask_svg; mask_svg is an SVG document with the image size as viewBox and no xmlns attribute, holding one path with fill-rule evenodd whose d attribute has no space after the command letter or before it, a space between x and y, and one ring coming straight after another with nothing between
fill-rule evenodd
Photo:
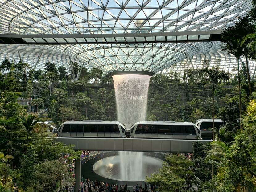
<instances>
[{"instance_id":1,"label":"whole white train car with dark windows, just right of the waterfall","mask_svg":"<svg viewBox=\"0 0 256 192\"><path fill-rule=\"evenodd\" d=\"M200 129L191 122L139 121L130 129L131 137L196 139Z\"/></svg>"}]
</instances>

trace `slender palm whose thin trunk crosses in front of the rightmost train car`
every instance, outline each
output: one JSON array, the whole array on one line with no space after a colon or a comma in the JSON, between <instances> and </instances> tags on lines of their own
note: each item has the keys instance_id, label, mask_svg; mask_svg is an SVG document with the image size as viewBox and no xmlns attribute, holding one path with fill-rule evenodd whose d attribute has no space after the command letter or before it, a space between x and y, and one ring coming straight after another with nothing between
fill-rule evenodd
<instances>
[{"instance_id":1,"label":"slender palm whose thin trunk crosses in front of the rightmost train car","mask_svg":"<svg viewBox=\"0 0 256 192\"><path fill-rule=\"evenodd\" d=\"M217 84L218 81L220 80L224 80L224 81L227 81L229 80L229 76L227 73L225 73L225 71L220 71L220 69L218 67L216 68L209 68L209 67L205 67L201 70L202 72L206 73L209 77L209 79L213 82L213 140L214 140L214 112L215 112L215 109L214 109L214 91L215 91L215 88L214 88L214 84Z\"/></svg>"}]
</instances>

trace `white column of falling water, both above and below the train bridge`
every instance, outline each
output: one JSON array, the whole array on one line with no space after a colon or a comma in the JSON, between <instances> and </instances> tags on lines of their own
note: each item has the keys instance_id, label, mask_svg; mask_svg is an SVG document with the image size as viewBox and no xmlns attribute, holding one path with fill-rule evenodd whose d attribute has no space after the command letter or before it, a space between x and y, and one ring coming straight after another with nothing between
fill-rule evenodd
<instances>
[{"instance_id":1,"label":"white column of falling water, both above and below the train bridge","mask_svg":"<svg viewBox=\"0 0 256 192\"><path fill-rule=\"evenodd\" d=\"M146 120L147 92L150 76L123 74L112 76L114 80L117 118L127 129L137 121ZM135 153L134 155L131 153ZM119 152L121 158L120 174L125 180L142 178L143 152ZM134 172L134 170L136 170Z\"/></svg>"}]
</instances>

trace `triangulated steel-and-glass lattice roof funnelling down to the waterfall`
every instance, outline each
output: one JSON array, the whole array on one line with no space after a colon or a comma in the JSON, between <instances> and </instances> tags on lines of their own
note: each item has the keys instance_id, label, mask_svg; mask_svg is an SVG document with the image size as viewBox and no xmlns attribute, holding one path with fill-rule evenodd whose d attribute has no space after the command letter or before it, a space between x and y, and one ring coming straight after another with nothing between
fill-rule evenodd
<instances>
[{"instance_id":1,"label":"triangulated steel-and-glass lattice roof funnelling down to the waterfall","mask_svg":"<svg viewBox=\"0 0 256 192\"><path fill-rule=\"evenodd\" d=\"M0 0L0 2L2 34L131 34L216 30L233 25L238 16L248 13L251 6L250 0ZM101 39L97 39L97 42L98 40ZM64 45L1 45L1 47L1 59L9 57L19 60L22 57L31 66L39 60L36 69L43 68L46 60L59 66L68 66L67 63L70 63L71 59L79 63L85 62L88 64L87 67L98 67L105 72L156 73L194 55L210 54L209 51L220 49L220 42L104 45L100 43L69 45L67 42ZM225 66L228 65L231 66L232 63L225 63Z\"/></svg>"}]
</instances>

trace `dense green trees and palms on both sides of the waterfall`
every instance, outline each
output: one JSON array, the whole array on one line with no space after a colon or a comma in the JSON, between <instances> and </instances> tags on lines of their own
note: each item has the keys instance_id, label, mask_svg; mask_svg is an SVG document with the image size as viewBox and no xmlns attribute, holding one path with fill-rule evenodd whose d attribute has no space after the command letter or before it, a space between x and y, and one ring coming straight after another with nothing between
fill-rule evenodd
<instances>
[{"instance_id":1,"label":"dense green trees and palms on both sides of the waterfall","mask_svg":"<svg viewBox=\"0 0 256 192\"><path fill-rule=\"evenodd\" d=\"M223 49L237 58L255 59L255 10L254 4L250 16L222 34ZM256 92L247 64L238 63L238 73L226 74L229 81L211 78L210 70L222 72L217 66L151 78L147 120L224 121L211 144L194 143L191 158L166 157L159 173L147 178L159 191L182 191L185 183L194 183L190 190L200 192L256 191ZM55 63L35 71L27 63L5 59L0 70L0 191L14 186L56 191L72 183L68 165L80 153L56 143L47 127L35 123L116 120L112 77L97 68L80 69L77 63L69 63L68 71Z\"/></svg>"}]
</instances>

